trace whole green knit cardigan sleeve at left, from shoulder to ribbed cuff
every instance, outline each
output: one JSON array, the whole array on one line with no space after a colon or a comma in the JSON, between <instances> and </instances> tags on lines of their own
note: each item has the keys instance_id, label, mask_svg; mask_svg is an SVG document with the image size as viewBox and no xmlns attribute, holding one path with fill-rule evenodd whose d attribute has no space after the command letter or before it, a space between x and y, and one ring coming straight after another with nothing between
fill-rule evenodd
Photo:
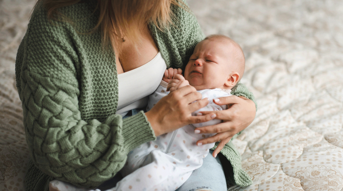
<instances>
[{"instance_id":1,"label":"whole green knit cardigan sleeve at left, from shoulder to ribbed cuff","mask_svg":"<svg viewBox=\"0 0 343 191\"><path fill-rule=\"evenodd\" d=\"M155 135L143 112L126 119L116 114L102 121L82 118L80 90L89 82L80 80L80 34L68 23L45 21L45 15L34 11L16 59L26 141L38 169L94 188L122 168L131 149Z\"/></svg>"}]
</instances>

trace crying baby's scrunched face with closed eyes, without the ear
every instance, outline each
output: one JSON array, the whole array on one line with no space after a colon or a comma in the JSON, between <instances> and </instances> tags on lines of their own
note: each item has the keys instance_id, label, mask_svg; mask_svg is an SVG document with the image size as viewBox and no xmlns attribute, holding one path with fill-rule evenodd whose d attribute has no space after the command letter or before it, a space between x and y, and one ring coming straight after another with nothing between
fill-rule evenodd
<instances>
[{"instance_id":1,"label":"crying baby's scrunched face with closed eyes, without the ear","mask_svg":"<svg viewBox=\"0 0 343 191\"><path fill-rule=\"evenodd\" d=\"M224 89L229 78L233 56L227 41L209 39L201 41L194 49L185 68L185 79L197 90Z\"/></svg>"}]
</instances>

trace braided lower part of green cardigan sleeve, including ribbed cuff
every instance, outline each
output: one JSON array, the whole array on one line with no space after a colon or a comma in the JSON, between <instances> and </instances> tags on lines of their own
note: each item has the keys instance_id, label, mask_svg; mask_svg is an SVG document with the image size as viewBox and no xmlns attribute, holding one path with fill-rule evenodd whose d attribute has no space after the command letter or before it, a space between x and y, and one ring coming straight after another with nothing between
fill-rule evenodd
<instances>
[{"instance_id":1,"label":"braided lower part of green cardigan sleeve, including ribbed cuff","mask_svg":"<svg viewBox=\"0 0 343 191\"><path fill-rule=\"evenodd\" d=\"M28 147L35 165L49 176L94 188L122 168L132 148L155 139L142 112L86 122L77 86L28 70L21 75Z\"/></svg>"}]
</instances>

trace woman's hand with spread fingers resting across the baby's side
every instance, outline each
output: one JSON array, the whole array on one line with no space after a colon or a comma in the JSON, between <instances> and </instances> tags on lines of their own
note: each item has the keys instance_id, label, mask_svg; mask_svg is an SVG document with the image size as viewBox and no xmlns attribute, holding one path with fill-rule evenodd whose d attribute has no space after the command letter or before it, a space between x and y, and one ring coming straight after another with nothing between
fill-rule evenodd
<instances>
[{"instance_id":1,"label":"woman's hand with spread fingers resting across the baby's side","mask_svg":"<svg viewBox=\"0 0 343 191\"><path fill-rule=\"evenodd\" d=\"M212 137L201 139L197 145L220 142L218 147L213 151L213 156L223 149L224 145L228 143L231 138L238 132L244 130L255 118L256 107L255 103L243 96L231 95L214 99L217 105L228 105L228 109L224 111L203 111L202 114L216 115L215 119L223 120L223 123L199 127L195 129L196 133L217 133Z\"/></svg>"}]
</instances>

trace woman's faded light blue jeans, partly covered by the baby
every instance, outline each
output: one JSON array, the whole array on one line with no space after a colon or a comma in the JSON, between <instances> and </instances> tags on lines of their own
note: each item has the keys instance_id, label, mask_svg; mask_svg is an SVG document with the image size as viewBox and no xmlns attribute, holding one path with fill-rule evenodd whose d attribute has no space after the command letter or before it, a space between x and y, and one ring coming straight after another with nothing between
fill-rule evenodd
<instances>
[{"instance_id":1,"label":"woman's faded light blue jeans, partly covered by the baby","mask_svg":"<svg viewBox=\"0 0 343 191\"><path fill-rule=\"evenodd\" d=\"M135 115L139 110L132 110L129 115ZM128 117L125 116L125 117ZM125 118L124 117L124 118ZM122 179L120 173L101 184L98 189L107 190L116 186L117 182ZM214 158L212 156L212 150L203 159L203 164L200 168L194 170L192 175L187 179L187 181L180 186L176 191L196 191L196 190L206 190L206 191L226 191L226 180L224 176L224 171L222 163L217 156Z\"/></svg>"}]
</instances>

